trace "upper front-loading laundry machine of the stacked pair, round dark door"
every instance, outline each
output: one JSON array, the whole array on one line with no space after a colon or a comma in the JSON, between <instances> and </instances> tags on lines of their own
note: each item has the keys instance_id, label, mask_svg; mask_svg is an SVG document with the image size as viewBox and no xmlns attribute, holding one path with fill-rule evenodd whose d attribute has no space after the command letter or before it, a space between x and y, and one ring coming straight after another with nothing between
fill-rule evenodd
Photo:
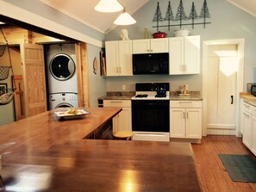
<instances>
[{"instance_id":1,"label":"upper front-loading laundry machine of the stacked pair, round dark door","mask_svg":"<svg viewBox=\"0 0 256 192\"><path fill-rule=\"evenodd\" d=\"M46 46L48 92L78 93L74 44Z\"/></svg>"}]
</instances>

